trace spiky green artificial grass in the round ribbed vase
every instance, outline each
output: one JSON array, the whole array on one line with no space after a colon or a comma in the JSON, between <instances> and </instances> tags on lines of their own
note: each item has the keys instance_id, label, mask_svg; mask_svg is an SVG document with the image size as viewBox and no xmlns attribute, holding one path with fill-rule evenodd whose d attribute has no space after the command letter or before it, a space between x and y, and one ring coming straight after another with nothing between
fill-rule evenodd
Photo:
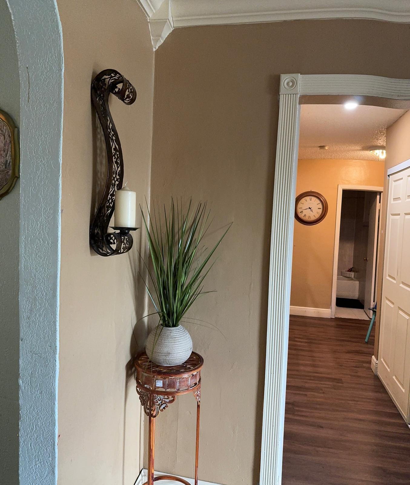
<instances>
[{"instance_id":1,"label":"spiky green artificial grass in the round ribbed vase","mask_svg":"<svg viewBox=\"0 0 410 485\"><path fill-rule=\"evenodd\" d=\"M211 292L204 291L203 282L215 262L210 259L232 223L208 249L203 239L212 221L206 202L193 207L191 199L184 211L182 200L175 204L172 198L168 212L165 205L160 211L158 203L152 215L148 205L147 210L149 226L141 212L151 261L144 261L149 279L144 283L159 324L176 327L195 300Z\"/></svg>"}]
</instances>

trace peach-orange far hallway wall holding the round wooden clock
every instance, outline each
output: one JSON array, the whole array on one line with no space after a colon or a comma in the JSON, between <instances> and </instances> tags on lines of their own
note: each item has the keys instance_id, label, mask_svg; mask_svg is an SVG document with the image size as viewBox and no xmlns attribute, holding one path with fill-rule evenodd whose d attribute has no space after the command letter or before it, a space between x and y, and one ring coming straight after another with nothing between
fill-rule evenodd
<instances>
[{"instance_id":1,"label":"peach-orange far hallway wall holding the round wooden clock","mask_svg":"<svg viewBox=\"0 0 410 485\"><path fill-rule=\"evenodd\" d=\"M383 186L382 162L299 160L296 194L314 190L324 195L329 210L319 224L295 220L290 304L330 308L338 185Z\"/></svg>"}]
</instances>

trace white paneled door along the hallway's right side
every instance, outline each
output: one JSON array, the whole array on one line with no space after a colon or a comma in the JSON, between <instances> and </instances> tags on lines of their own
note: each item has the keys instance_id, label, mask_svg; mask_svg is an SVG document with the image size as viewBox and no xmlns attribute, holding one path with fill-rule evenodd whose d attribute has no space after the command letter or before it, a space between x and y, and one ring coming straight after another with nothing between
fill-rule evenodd
<instances>
[{"instance_id":1,"label":"white paneled door along the hallway's right side","mask_svg":"<svg viewBox=\"0 0 410 485\"><path fill-rule=\"evenodd\" d=\"M390 176L378 375L409 422L410 167Z\"/></svg>"}]
</instances>

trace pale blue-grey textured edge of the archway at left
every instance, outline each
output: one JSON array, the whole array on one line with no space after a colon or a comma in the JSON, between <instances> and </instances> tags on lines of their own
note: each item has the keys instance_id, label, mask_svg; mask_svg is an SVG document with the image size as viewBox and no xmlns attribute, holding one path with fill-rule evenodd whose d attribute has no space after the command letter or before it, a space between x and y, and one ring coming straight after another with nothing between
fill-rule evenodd
<instances>
[{"instance_id":1,"label":"pale blue-grey textured edge of the archway at left","mask_svg":"<svg viewBox=\"0 0 410 485\"><path fill-rule=\"evenodd\" d=\"M16 34L20 78L19 483L54 485L62 36L54 0L7 2Z\"/></svg>"}]
</instances>

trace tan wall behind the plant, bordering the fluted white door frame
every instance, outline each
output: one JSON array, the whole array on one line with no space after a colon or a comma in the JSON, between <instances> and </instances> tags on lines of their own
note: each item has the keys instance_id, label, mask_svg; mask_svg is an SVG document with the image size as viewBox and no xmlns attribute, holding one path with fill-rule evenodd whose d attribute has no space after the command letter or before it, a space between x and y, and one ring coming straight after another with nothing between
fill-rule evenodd
<instances>
[{"instance_id":1,"label":"tan wall behind the plant, bordering the fluted white door frame","mask_svg":"<svg viewBox=\"0 0 410 485\"><path fill-rule=\"evenodd\" d=\"M364 20L204 26L176 29L156 52L152 195L208 199L215 227L234 221L207 283L218 292L191 313L227 337L191 328L205 357L203 480L259 477L279 75L410 78L409 34ZM157 469L192 476L194 410L185 396L160 416Z\"/></svg>"}]
</instances>

